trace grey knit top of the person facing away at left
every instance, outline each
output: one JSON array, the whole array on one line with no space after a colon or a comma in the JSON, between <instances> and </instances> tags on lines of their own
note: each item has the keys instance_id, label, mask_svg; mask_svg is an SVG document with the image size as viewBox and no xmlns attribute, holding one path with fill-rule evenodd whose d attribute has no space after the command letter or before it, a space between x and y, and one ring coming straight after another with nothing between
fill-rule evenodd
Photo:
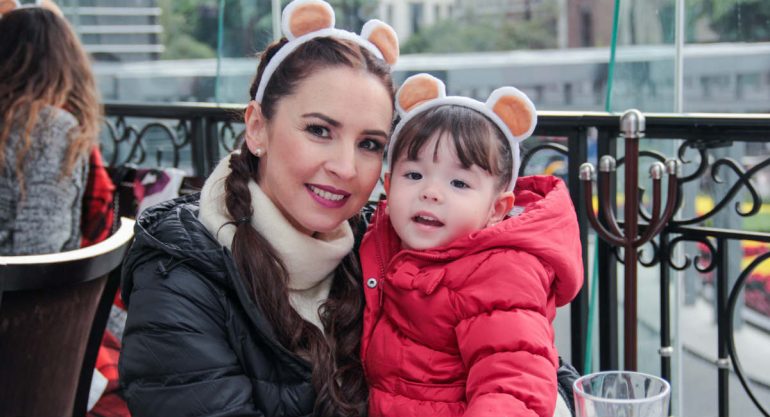
<instances>
[{"instance_id":1,"label":"grey knit top of the person facing away at left","mask_svg":"<svg viewBox=\"0 0 770 417\"><path fill-rule=\"evenodd\" d=\"M54 253L80 246L88 159L79 158L72 173L62 177L69 131L77 125L77 119L64 110L41 110L30 135L32 146L24 157L24 199L15 169L23 132L18 127L11 130L0 169L0 256Z\"/></svg>"}]
</instances>

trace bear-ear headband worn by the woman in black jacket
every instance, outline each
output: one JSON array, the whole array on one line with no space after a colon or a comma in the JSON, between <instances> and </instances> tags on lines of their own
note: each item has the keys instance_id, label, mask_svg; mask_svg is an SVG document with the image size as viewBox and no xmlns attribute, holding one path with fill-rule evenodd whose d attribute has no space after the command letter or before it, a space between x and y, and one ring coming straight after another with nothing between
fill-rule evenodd
<instances>
[{"instance_id":1,"label":"bear-ear headband worn by the woman in black jacket","mask_svg":"<svg viewBox=\"0 0 770 417\"><path fill-rule=\"evenodd\" d=\"M361 34L348 32L334 27L334 9L329 3L321 0L294 0L283 9L281 30L289 41L276 52L267 63L262 79L257 87L254 100L262 103L265 88L276 68L303 43L315 39L332 37L353 41L374 56L390 65L398 59L398 37L388 24L372 19L361 29Z\"/></svg>"}]
</instances>

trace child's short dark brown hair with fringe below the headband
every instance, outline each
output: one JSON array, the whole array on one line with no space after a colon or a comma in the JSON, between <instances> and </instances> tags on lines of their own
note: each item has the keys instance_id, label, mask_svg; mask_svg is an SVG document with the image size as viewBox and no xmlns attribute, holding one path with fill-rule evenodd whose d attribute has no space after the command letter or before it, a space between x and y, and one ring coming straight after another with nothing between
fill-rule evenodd
<instances>
[{"instance_id":1,"label":"child's short dark brown hair with fringe below the headband","mask_svg":"<svg viewBox=\"0 0 770 417\"><path fill-rule=\"evenodd\" d=\"M438 106L409 120L393 146L392 164L395 166L402 155L416 160L434 134L440 138L433 149L434 158L439 142L448 134L463 167L477 165L496 176L499 190L510 185L513 155L505 134L483 114L462 106Z\"/></svg>"}]
</instances>

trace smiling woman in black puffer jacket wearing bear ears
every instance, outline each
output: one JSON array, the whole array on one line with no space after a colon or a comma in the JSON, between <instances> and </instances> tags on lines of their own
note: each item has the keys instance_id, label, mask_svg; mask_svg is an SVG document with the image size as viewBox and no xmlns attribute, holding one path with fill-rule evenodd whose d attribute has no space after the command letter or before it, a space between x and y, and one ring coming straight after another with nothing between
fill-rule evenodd
<instances>
[{"instance_id":1,"label":"smiling woman in black puffer jacket wearing bear ears","mask_svg":"<svg viewBox=\"0 0 770 417\"><path fill-rule=\"evenodd\" d=\"M121 382L134 416L357 416L363 300L355 218L380 173L392 29L284 11L246 140L200 197L148 209L124 266ZM383 59L384 58L384 59Z\"/></svg>"}]
</instances>

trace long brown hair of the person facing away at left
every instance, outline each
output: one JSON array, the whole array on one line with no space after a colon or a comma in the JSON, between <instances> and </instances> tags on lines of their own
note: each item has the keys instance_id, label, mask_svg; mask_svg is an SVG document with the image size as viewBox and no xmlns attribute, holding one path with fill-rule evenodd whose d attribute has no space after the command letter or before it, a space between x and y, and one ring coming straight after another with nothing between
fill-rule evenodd
<instances>
[{"instance_id":1,"label":"long brown hair of the person facing away at left","mask_svg":"<svg viewBox=\"0 0 770 417\"><path fill-rule=\"evenodd\" d=\"M30 134L45 106L72 113L78 127L69 132L62 176L98 143L101 106L91 63L64 18L41 7L21 8L0 18L0 167L11 130L23 129L16 160L22 190L24 157Z\"/></svg>"}]
</instances>

